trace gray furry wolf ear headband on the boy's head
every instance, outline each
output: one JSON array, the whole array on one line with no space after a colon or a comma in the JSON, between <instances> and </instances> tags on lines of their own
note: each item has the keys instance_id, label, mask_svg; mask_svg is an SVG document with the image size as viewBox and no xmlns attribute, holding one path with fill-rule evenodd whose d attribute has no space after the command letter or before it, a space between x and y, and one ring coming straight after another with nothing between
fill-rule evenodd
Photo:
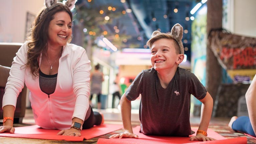
<instances>
[{"instance_id":1,"label":"gray furry wolf ear headband on the boy's head","mask_svg":"<svg viewBox=\"0 0 256 144\"><path fill-rule=\"evenodd\" d=\"M159 31L154 31L151 35L151 37L154 37L158 34L161 34L161 32ZM181 54L184 54L184 47L182 44L182 37L183 37L183 27L180 24L175 24L171 30L171 34L169 34L170 36L172 36L179 44L180 46L180 51Z\"/></svg>"}]
</instances>

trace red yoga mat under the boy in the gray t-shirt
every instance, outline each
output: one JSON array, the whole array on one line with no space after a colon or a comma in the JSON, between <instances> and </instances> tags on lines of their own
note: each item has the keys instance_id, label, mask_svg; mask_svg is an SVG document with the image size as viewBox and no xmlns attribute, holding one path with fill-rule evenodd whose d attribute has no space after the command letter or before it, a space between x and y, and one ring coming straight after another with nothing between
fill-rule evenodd
<instances>
[{"instance_id":1,"label":"red yoga mat under the boy in the gray t-shirt","mask_svg":"<svg viewBox=\"0 0 256 144\"><path fill-rule=\"evenodd\" d=\"M247 139L245 137L241 138L233 138L233 139L225 139L225 137L221 136L217 132L208 129L207 134L211 138L217 139L216 141L190 141L189 137L166 137L166 136L149 136L139 133L140 126L133 128L133 131L139 136L139 139L135 138L111 138L104 139L99 138L97 144L184 144L184 143L193 143L193 144L246 144ZM196 128L192 128L193 131L197 131ZM193 136L196 134L193 134Z\"/></svg>"}]
</instances>

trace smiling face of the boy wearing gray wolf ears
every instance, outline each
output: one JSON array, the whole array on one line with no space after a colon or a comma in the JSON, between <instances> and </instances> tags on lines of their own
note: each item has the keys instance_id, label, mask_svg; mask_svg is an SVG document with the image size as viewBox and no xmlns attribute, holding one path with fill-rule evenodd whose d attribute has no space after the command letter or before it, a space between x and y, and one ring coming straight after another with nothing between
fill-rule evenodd
<instances>
[{"instance_id":1,"label":"smiling face of the boy wearing gray wolf ears","mask_svg":"<svg viewBox=\"0 0 256 144\"><path fill-rule=\"evenodd\" d=\"M173 39L159 39L152 44L151 64L155 70L173 68L178 59Z\"/></svg>"}]
</instances>

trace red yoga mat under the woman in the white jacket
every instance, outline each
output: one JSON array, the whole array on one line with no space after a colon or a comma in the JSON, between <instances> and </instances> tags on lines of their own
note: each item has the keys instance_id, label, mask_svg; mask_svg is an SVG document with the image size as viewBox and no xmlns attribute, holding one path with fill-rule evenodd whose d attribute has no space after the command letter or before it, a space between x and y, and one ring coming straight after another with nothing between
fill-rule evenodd
<instances>
[{"instance_id":1,"label":"red yoga mat under the woman in the white jacket","mask_svg":"<svg viewBox=\"0 0 256 144\"><path fill-rule=\"evenodd\" d=\"M121 129L122 125L101 124L83 129L80 137L56 135L60 130L42 129L38 125L15 127L15 133L0 133L3 137L36 138L48 140L83 141Z\"/></svg>"}]
</instances>

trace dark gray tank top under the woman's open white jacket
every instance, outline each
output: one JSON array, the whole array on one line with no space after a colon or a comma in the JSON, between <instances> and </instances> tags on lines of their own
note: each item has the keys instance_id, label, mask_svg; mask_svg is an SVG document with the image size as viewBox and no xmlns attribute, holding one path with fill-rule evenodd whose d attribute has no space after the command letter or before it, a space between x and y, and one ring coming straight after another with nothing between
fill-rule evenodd
<instances>
[{"instance_id":1,"label":"dark gray tank top under the woman's open white jacket","mask_svg":"<svg viewBox=\"0 0 256 144\"><path fill-rule=\"evenodd\" d=\"M39 86L42 92L47 95L53 94L57 84L57 74L46 75L39 69Z\"/></svg>"}]
</instances>

